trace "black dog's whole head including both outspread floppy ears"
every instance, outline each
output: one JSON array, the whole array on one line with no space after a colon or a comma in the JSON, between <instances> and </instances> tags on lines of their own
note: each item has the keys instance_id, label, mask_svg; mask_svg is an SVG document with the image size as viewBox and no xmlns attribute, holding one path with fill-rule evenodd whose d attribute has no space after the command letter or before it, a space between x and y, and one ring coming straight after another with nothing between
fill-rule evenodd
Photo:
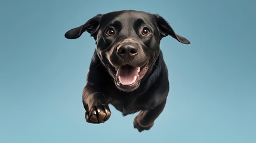
<instances>
[{"instance_id":1,"label":"black dog's whole head including both outspread floppy ears","mask_svg":"<svg viewBox=\"0 0 256 143\"><path fill-rule=\"evenodd\" d=\"M89 32L96 41L101 62L115 80L116 87L134 91L149 76L160 52L160 41L170 35L181 43L190 43L174 33L159 15L141 11L116 11L99 14L65 36L76 39Z\"/></svg>"}]
</instances>

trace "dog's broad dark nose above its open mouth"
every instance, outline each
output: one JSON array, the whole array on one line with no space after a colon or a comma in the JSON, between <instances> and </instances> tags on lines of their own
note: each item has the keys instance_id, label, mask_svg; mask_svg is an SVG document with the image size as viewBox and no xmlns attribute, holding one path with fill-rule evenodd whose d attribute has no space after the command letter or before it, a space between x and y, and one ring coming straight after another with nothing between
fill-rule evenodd
<instances>
[{"instance_id":1,"label":"dog's broad dark nose above its open mouth","mask_svg":"<svg viewBox=\"0 0 256 143\"><path fill-rule=\"evenodd\" d=\"M116 51L119 57L124 59L131 59L134 58L135 55L138 54L138 48L133 43L124 43L121 46L118 47L118 50Z\"/></svg>"}]
</instances>

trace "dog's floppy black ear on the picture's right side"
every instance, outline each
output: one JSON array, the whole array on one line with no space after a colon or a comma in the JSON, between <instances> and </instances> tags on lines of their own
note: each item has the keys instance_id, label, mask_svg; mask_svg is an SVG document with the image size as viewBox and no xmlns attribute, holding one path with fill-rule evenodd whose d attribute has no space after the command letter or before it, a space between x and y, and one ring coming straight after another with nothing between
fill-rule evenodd
<instances>
[{"instance_id":1,"label":"dog's floppy black ear on the picture's right side","mask_svg":"<svg viewBox=\"0 0 256 143\"><path fill-rule=\"evenodd\" d=\"M172 27L170 26L170 24L164 18L162 18L160 15L155 14L155 19L156 19L156 23L158 24L159 32L162 36L161 38L170 35L173 38L177 39L177 41L179 41L181 43L186 43L186 44L190 43L183 36L177 35L174 32L174 30L172 30Z\"/></svg>"}]
</instances>

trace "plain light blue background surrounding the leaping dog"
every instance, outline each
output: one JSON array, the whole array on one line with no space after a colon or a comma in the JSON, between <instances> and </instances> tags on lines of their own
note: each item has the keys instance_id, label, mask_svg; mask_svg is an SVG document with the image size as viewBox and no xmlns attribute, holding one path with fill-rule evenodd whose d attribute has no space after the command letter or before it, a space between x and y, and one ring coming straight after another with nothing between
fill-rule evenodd
<instances>
[{"instance_id":1,"label":"plain light blue background surrounding the leaping dog","mask_svg":"<svg viewBox=\"0 0 256 143\"><path fill-rule=\"evenodd\" d=\"M256 142L255 1L1 1L0 142ZM85 122L94 39L64 33L96 14L162 15L190 40L161 41L171 90L149 131L136 114Z\"/></svg>"}]
</instances>

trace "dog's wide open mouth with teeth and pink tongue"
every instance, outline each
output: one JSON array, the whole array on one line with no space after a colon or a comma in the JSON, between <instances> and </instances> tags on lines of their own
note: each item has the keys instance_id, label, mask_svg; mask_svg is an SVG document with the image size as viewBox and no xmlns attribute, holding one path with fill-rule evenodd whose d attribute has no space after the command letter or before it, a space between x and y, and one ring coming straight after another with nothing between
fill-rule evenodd
<instances>
[{"instance_id":1,"label":"dog's wide open mouth with teeth and pink tongue","mask_svg":"<svg viewBox=\"0 0 256 143\"><path fill-rule=\"evenodd\" d=\"M116 81L116 85L122 88L133 88L138 85L139 81L147 73L148 66L133 67L124 65L121 67L109 66L109 71Z\"/></svg>"}]
</instances>

